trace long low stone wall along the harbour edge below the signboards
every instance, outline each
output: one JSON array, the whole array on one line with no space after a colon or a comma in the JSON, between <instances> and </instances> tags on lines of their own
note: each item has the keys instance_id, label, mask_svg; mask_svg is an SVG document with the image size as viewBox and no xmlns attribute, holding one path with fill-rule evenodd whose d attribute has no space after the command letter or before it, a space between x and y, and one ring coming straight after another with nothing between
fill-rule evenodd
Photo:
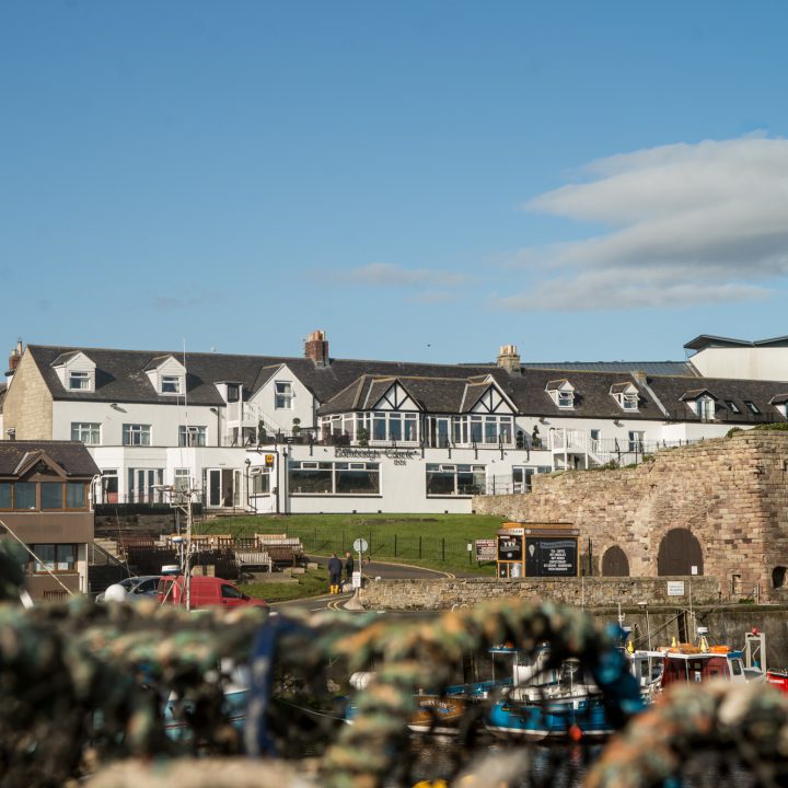
<instances>
[{"instance_id":1,"label":"long low stone wall along the harbour edge below the signboards","mask_svg":"<svg viewBox=\"0 0 788 788\"><path fill-rule=\"evenodd\" d=\"M668 581L683 581L684 596L669 596ZM622 605L714 604L719 602L717 579L694 578L453 578L437 580L372 580L359 601L374 610L450 610L493 599L549 600L577 607Z\"/></svg>"}]
</instances>

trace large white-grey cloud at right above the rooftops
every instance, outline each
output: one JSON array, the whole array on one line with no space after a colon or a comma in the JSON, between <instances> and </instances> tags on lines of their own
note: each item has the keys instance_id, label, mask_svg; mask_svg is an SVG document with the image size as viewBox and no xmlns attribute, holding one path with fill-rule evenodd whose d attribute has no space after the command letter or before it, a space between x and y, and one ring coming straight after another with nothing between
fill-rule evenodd
<instances>
[{"instance_id":1,"label":"large white-grey cloud at right above the rooftops","mask_svg":"<svg viewBox=\"0 0 788 788\"><path fill-rule=\"evenodd\" d=\"M584 241L521 250L535 275L503 308L628 309L766 298L788 275L788 140L674 144L589 164L588 183L524 208L611 228ZM549 274L556 278L544 279Z\"/></svg>"}]
</instances>

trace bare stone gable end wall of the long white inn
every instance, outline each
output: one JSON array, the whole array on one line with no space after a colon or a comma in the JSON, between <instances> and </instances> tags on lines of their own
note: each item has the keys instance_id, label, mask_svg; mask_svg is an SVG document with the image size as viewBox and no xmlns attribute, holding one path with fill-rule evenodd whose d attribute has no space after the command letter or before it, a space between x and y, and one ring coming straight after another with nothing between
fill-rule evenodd
<instances>
[{"instance_id":1,"label":"bare stone gable end wall of the long white inn","mask_svg":"<svg viewBox=\"0 0 788 788\"><path fill-rule=\"evenodd\" d=\"M3 429L16 440L51 440L53 397L33 357L26 352L3 401Z\"/></svg>"}]
</instances>

